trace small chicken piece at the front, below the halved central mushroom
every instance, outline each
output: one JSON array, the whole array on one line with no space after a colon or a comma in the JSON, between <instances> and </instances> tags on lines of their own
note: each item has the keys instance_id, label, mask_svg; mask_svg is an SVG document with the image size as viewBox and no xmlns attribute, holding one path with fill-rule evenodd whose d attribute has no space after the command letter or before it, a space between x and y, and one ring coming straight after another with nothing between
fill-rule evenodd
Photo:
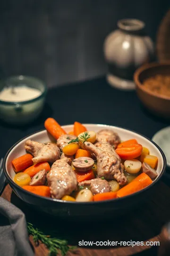
<instances>
[{"instance_id":1,"label":"small chicken piece at the front, below the halved central mushroom","mask_svg":"<svg viewBox=\"0 0 170 256\"><path fill-rule=\"evenodd\" d=\"M83 181L78 183L78 185L90 186L90 190L93 195L103 192L110 192L111 190L109 183L106 180L102 180L100 178L96 178L90 181Z\"/></svg>"}]
</instances>

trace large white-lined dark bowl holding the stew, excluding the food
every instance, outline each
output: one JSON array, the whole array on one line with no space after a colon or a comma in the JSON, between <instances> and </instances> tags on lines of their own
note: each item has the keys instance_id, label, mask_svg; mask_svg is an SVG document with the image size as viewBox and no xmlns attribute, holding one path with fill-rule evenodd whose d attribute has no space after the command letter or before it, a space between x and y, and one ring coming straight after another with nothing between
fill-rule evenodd
<instances>
[{"instance_id":1,"label":"large white-lined dark bowl holding the stew, excluding the food","mask_svg":"<svg viewBox=\"0 0 170 256\"><path fill-rule=\"evenodd\" d=\"M8 179L9 184L11 185L11 187L13 188L13 190L16 192L17 196L20 199L22 199L23 201L26 201L27 203L33 205L34 207L38 207L42 211L48 212L56 216L62 216L62 217L63 216L74 216L74 217L86 216L87 217L89 216L89 211L93 216L97 216L97 215L101 216L101 214L109 215L111 212L113 214L121 211L126 207L130 207L130 205L135 204L135 202L137 203L138 200L140 200L140 198L141 200L142 198L148 199L148 197L144 195L144 192L150 191L153 185L161 178L166 168L166 158L163 152L161 151L161 149L159 148L159 146L157 146L150 139L147 139L146 137L136 132L133 132L124 128L107 126L107 125L99 125L99 124L98 125L84 124L84 125L88 130L94 130L96 132L103 128L112 129L119 134L119 137L121 138L121 140L136 138L138 143L142 144L143 146L147 147L150 150L151 155L156 155L158 157L158 166L157 166L158 177L153 181L153 183L150 186L148 186L144 190L136 192L135 194L126 196L124 198L118 198L110 201L80 202L80 203L78 202L77 203L77 202L68 202L68 201L62 201L62 200L51 199L51 198L44 198L41 196L37 196L33 193L26 192L24 189L22 189L16 183L13 182L15 172L12 168L11 161L14 158L17 158L21 155L26 154L24 146L27 139L36 140L38 142L48 142L52 139L46 130L42 130L21 139L14 146L12 146L11 149L9 149L8 153L4 158L4 162L3 162L4 173ZM66 132L69 132L73 130L73 125L63 126L62 128L65 129ZM79 205L81 205L81 207L79 207L79 210L77 212L77 206ZM104 208L102 206L104 206Z\"/></svg>"}]
</instances>

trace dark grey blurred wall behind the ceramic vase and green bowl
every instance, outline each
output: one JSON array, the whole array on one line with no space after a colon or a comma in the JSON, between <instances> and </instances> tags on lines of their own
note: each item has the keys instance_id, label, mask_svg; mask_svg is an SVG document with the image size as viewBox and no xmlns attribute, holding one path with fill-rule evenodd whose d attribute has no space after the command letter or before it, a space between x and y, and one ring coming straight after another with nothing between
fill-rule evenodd
<instances>
[{"instance_id":1,"label":"dark grey blurred wall behind the ceramic vase and green bowl","mask_svg":"<svg viewBox=\"0 0 170 256\"><path fill-rule=\"evenodd\" d=\"M106 72L102 46L120 18L138 18L155 41L167 0L1 0L0 66L49 86Z\"/></svg>"}]
</instances>

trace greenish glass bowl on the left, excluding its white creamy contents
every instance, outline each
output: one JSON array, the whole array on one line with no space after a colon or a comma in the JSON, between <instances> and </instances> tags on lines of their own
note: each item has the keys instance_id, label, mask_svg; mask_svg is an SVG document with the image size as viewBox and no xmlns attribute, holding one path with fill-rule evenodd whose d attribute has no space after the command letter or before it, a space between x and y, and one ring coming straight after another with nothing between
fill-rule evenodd
<instances>
[{"instance_id":1,"label":"greenish glass bowl on the left, excluding its white creamy contents","mask_svg":"<svg viewBox=\"0 0 170 256\"><path fill-rule=\"evenodd\" d=\"M40 79L31 76L11 76L0 81L0 91L8 84L12 84L14 87L26 85L38 89L42 93L28 101L0 101L0 119L15 125L25 125L32 122L42 111L47 93L46 84Z\"/></svg>"}]
</instances>

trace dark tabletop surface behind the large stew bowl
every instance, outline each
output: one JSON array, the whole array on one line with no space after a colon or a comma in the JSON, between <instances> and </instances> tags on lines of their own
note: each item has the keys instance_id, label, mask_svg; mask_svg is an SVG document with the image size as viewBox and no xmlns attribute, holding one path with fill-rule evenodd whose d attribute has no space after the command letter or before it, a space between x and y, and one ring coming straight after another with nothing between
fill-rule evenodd
<instances>
[{"instance_id":1,"label":"dark tabletop surface behind the large stew bowl","mask_svg":"<svg viewBox=\"0 0 170 256\"><path fill-rule=\"evenodd\" d=\"M108 124L129 128L152 138L170 121L154 117L141 105L136 91L111 88L105 77L49 89L41 116L25 127L14 127L0 121L0 157L10 146L42 128L46 118L60 125L82 123Z\"/></svg>"}]
</instances>

